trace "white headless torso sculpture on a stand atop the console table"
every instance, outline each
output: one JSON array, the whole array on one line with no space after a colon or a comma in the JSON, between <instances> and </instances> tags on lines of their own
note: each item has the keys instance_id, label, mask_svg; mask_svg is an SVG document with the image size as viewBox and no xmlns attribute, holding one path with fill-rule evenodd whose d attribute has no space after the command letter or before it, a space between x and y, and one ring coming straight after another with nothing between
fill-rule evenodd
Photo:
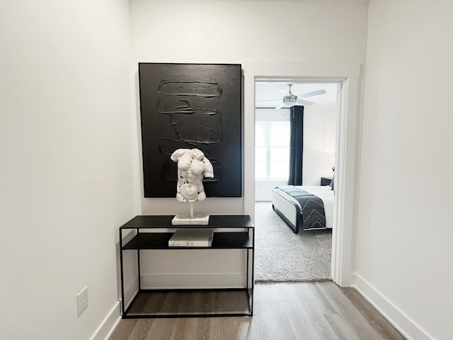
<instances>
[{"instance_id":1,"label":"white headless torso sculpture on a stand atop the console table","mask_svg":"<svg viewBox=\"0 0 453 340\"><path fill-rule=\"evenodd\" d=\"M203 186L203 177L214 177L214 169L209 159L205 157L199 149L177 149L171 154L171 160L178 163L178 184L176 187L176 200L180 203L190 202L190 217L178 214L176 220L180 224L207 224L203 219L209 218L207 215L193 216L193 202L206 198ZM201 219L201 220L200 220ZM173 224L178 224L175 221Z\"/></svg>"}]
</instances>

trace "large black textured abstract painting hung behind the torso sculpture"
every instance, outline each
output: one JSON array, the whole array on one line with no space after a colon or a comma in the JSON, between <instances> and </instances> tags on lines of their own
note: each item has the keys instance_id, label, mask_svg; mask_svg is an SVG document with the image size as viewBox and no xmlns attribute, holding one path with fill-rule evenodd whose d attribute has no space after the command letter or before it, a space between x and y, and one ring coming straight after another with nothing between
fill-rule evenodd
<instances>
[{"instance_id":1,"label":"large black textured abstract painting hung behind the torso sculpture","mask_svg":"<svg viewBox=\"0 0 453 340\"><path fill-rule=\"evenodd\" d=\"M144 197L175 197L176 149L214 167L207 197L241 197L241 64L139 63Z\"/></svg>"}]
</instances>

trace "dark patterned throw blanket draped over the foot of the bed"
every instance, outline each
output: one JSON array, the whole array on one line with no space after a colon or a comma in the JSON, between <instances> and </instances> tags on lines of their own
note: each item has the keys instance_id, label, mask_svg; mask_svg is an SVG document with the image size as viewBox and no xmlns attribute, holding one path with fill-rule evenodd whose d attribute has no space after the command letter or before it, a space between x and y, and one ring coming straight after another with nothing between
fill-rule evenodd
<instances>
[{"instance_id":1,"label":"dark patterned throw blanket draped over the foot of the bed","mask_svg":"<svg viewBox=\"0 0 453 340\"><path fill-rule=\"evenodd\" d=\"M295 186L277 186L288 195L294 197L302 208L302 229L319 229L326 227L326 212L321 198L311 193L307 193Z\"/></svg>"}]
</instances>

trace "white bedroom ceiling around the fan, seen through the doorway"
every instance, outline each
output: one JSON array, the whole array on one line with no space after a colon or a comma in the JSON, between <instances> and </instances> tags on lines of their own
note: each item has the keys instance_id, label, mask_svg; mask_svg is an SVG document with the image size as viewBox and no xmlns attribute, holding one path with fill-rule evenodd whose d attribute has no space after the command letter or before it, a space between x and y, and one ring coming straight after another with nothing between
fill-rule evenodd
<instances>
[{"instance_id":1,"label":"white bedroom ceiling around the fan, seen through the doorway","mask_svg":"<svg viewBox=\"0 0 453 340\"><path fill-rule=\"evenodd\" d=\"M294 81L257 81L256 82L256 108L275 108L282 103L282 94L279 89L289 89L288 84L291 86L291 92L294 95L305 94L306 92L324 89L326 94L318 96L303 98L306 101L314 101L315 106L336 106L338 83L323 83L323 82L303 82L296 83ZM261 100L270 100L258 102Z\"/></svg>"}]
</instances>

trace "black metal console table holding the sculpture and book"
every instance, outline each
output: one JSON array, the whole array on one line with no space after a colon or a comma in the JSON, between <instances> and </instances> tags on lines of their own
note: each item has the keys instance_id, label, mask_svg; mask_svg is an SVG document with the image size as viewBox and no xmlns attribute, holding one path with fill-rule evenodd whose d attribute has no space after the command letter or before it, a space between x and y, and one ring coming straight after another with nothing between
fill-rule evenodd
<instances>
[{"instance_id":1,"label":"black metal console table holding the sculpture and book","mask_svg":"<svg viewBox=\"0 0 453 340\"><path fill-rule=\"evenodd\" d=\"M139 215L120 227L121 307L122 318L139 317L224 317L253 315L254 225L248 215L211 215L209 224L171 225L171 215ZM212 228L212 246L168 246L176 229ZM162 231L164 229L164 231ZM157 249L237 249L245 251L246 280L242 288L142 289L140 283L141 251ZM138 273L137 293L125 301L124 253L136 253L134 271ZM209 255L208 255L209 256Z\"/></svg>"}]
</instances>

